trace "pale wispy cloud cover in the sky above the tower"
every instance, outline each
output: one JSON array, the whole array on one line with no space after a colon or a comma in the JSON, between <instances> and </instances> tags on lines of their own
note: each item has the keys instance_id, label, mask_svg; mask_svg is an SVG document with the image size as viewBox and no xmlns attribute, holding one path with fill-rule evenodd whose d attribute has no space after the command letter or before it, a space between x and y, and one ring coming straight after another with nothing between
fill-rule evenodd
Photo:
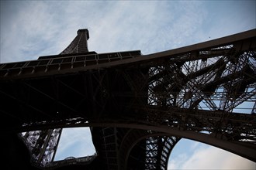
<instances>
[{"instance_id":1,"label":"pale wispy cloud cover in the sky above the tower","mask_svg":"<svg viewBox=\"0 0 256 170\"><path fill-rule=\"evenodd\" d=\"M199 1L1 2L1 62L61 53L82 28L90 32L88 48L99 53L186 46L255 27L255 10L245 10L252 5L240 6L229 15L227 6L216 12Z\"/></svg>"}]
</instances>

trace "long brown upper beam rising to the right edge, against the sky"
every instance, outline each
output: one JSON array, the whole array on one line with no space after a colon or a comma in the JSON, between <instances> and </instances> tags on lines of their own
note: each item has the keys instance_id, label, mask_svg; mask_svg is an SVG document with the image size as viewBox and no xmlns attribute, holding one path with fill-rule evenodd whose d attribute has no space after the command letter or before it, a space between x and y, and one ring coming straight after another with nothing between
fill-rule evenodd
<instances>
[{"instance_id":1,"label":"long brown upper beam rising to the right edge, against the sky","mask_svg":"<svg viewBox=\"0 0 256 170\"><path fill-rule=\"evenodd\" d=\"M253 46L256 48L256 29L252 29L247 32L240 32L238 34L234 34L231 36L225 36L220 39L213 39L207 42L201 42L198 44L194 44L191 46L185 46L178 49L171 49L168 51L164 51L161 53L152 53L149 55L140 56L140 53L137 53L136 51L131 51L131 55L127 57L123 57L129 52L124 52L121 54L121 56L116 55L116 59L111 59L110 54L95 54L95 56L98 55L98 58L95 57L95 59L81 59L77 64L78 66L75 66L75 60L71 59L71 61L67 63L63 63L64 59L67 59L67 56L63 58L54 58L57 63L53 63L53 61L49 61L50 63L47 63L44 66L30 66L28 67L30 62L40 62L40 60L33 60L29 61L29 63L25 63L25 68L9 68L5 69L5 64L0 64L0 77L2 80L12 80L12 79L22 79L22 78L31 78L31 77L38 77L38 76L51 76L51 75L57 75L57 74L66 74L66 73L78 73L81 71L86 70L99 70L99 69L106 69L112 66L123 66L127 64L133 64L133 63L145 63L150 62L154 59L161 59L161 58L172 58L177 59L177 56L195 52L198 50L204 50L204 49L211 49L215 48L217 46L225 46L231 43L239 42L239 41L250 41L247 42L249 44L247 47ZM114 55L114 54L112 54ZM86 55L84 55L86 56ZM90 55L94 56L94 55ZM102 59L100 59L99 56L102 56ZM103 57L104 56L104 57ZM140 57L138 57L140 56ZM80 57L80 56L72 56L72 57ZM83 56L81 56L83 57ZM59 59L61 61L57 61ZM62 60L61 60L62 59ZM20 62L24 63L24 62ZM13 63L15 64L15 63ZM23 66L23 65L22 65ZM52 67L50 69L50 67ZM24 70L25 69L25 70ZM48 70L49 69L49 70ZM14 71L15 70L15 71ZM13 72L13 73L12 73Z\"/></svg>"}]
</instances>

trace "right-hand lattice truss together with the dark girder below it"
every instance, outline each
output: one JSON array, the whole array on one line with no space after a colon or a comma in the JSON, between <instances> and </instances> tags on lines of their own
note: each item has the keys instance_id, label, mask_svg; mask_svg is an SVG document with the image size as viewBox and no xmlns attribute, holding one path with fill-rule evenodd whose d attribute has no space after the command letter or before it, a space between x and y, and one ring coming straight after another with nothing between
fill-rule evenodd
<instances>
[{"instance_id":1,"label":"right-hand lattice truss together with the dark girder below it","mask_svg":"<svg viewBox=\"0 0 256 170\"><path fill-rule=\"evenodd\" d=\"M183 128L209 134L221 131L237 141L255 144L255 127L247 126L245 120L232 120L254 114L256 101L255 50L237 49L220 46L152 63L148 103L163 114L149 121L177 127L183 124ZM175 117L175 111L183 116Z\"/></svg>"}]
</instances>

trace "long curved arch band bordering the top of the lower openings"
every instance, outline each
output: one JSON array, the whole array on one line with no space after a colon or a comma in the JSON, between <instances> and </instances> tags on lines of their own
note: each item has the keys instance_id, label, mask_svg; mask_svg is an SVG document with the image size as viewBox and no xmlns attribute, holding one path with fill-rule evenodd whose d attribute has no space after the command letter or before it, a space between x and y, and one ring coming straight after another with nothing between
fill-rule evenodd
<instances>
[{"instance_id":1,"label":"long curved arch band bordering the top of the lower openings","mask_svg":"<svg viewBox=\"0 0 256 170\"><path fill-rule=\"evenodd\" d=\"M200 141L202 143L213 145L217 148L222 148L223 150L230 151L236 155L240 155L244 158L250 159L253 162L256 162L256 147L253 144L247 144L243 141L228 141L223 138L221 135L217 134L204 134L199 131L189 131L182 130L182 128L169 127L168 125L154 125L154 124L135 124L128 122L113 122L113 121L104 121L98 123L91 122L81 122L79 124L37 124L36 127L23 127L20 128L20 131L34 131L43 128L74 128L74 127L117 127L117 128L133 128L133 129L142 129L142 130L151 130L158 131L171 136L177 136L180 138L188 138L193 141Z\"/></svg>"}]
</instances>

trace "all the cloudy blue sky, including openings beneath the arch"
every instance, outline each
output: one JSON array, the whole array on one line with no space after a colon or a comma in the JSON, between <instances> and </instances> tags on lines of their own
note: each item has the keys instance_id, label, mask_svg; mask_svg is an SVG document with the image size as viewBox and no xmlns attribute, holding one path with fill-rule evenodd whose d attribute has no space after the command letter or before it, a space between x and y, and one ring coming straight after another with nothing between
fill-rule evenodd
<instances>
[{"instance_id":1,"label":"all the cloudy blue sky, including openings beneath the arch","mask_svg":"<svg viewBox=\"0 0 256 170\"><path fill-rule=\"evenodd\" d=\"M88 29L89 51L140 49L149 54L256 28L255 0L9 0L0 5L0 63L59 54L78 29ZM88 128L64 129L56 159L90 155L88 139ZM168 169L255 168L247 159L186 139L178 142L168 162Z\"/></svg>"}]
</instances>

